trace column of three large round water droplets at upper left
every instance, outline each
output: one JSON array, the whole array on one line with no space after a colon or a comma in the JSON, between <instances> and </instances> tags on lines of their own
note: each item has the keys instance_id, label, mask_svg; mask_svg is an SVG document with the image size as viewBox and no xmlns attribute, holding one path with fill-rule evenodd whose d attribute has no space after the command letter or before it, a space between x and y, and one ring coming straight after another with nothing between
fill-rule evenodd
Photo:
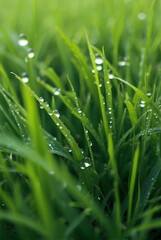
<instances>
[{"instance_id":1,"label":"column of three large round water droplets at upper left","mask_svg":"<svg viewBox=\"0 0 161 240\"><path fill-rule=\"evenodd\" d=\"M19 35L19 39L18 39L18 44L21 47L27 47L28 46L28 39L26 37L26 35L24 33L21 33ZM32 48L27 48L27 56L25 57L25 61L28 62L28 58L31 59L35 56L34 50ZM21 75L21 79L24 83L28 83L29 81L29 76L26 72L23 72Z\"/></svg>"}]
</instances>

